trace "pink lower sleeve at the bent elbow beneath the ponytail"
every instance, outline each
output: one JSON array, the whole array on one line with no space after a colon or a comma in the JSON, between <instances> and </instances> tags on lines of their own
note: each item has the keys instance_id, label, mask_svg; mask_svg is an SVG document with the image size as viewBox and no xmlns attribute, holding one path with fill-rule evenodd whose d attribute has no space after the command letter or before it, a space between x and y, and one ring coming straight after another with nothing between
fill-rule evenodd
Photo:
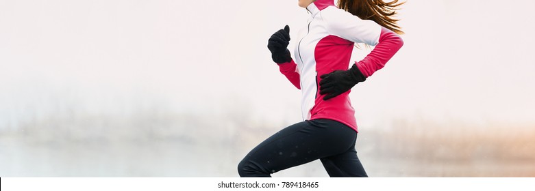
<instances>
[{"instance_id":1,"label":"pink lower sleeve at the bent elbow beneath the ponytail","mask_svg":"<svg viewBox=\"0 0 535 191\"><path fill-rule=\"evenodd\" d=\"M397 50L403 46L403 40L399 35L382 27L379 43L371 50L371 53L361 61L355 62L358 70L369 77L375 71L384 67L386 62L392 58Z\"/></svg>"}]
</instances>

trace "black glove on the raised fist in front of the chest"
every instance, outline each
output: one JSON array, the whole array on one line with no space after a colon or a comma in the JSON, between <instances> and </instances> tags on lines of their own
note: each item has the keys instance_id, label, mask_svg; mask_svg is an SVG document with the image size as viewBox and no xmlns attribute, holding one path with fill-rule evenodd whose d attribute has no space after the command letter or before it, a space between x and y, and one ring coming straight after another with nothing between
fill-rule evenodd
<instances>
[{"instance_id":1,"label":"black glove on the raised fist in front of the chest","mask_svg":"<svg viewBox=\"0 0 535 191\"><path fill-rule=\"evenodd\" d=\"M271 38L268 40L268 48L271 51L271 59L275 63L292 61L290 50L286 48L288 44L290 44L290 27L288 25L271 35Z\"/></svg>"}]
</instances>

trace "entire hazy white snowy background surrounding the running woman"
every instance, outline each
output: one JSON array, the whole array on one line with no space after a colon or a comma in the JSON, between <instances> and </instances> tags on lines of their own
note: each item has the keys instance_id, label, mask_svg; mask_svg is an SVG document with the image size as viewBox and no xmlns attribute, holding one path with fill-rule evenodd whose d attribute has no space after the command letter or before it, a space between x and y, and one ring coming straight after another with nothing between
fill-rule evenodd
<instances>
[{"instance_id":1,"label":"entire hazy white snowy background surrounding the running woman","mask_svg":"<svg viewBox=\"0 0 535 191\"><path fill-rule=\"evenodd\" d=\"M370 176L535 176L534 6L402 5L405 45L351 93ZM0 0L0 176L238 176L301 121L266 44L290 25L294 48L307 18L283 0Z\"/></svg>"}]
</instances>

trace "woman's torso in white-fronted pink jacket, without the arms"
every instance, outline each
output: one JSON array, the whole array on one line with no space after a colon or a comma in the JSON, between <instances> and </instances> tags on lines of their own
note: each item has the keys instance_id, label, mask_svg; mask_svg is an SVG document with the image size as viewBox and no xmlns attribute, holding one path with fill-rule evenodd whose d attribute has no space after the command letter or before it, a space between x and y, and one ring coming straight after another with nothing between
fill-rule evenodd
<instances>
[{"instance_id":1,"label":"woman's torso in white-fronted pink jacket, without the arms","mask_svg":"<svg viewBox=\"0 0 535 191\"><path fill-rule=\"evenodd\" d=\"M328 23L314 3L308 10L311 18L301 29L293 53L301 75L303 119L333 119L357 130L350 91L330 100L323 100L324 95L319 94L319 76L334 70L348 70L354 43L329 33Z\"/></svg>"}]
</instances>

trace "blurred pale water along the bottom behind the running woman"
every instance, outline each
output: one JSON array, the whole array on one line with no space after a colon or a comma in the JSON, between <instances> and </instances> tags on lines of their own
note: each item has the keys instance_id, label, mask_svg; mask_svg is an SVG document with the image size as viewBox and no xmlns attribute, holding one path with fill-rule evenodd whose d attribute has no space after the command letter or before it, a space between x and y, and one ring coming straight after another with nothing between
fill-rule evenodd
<instances>
[{"instance_id":1,"label":"blurred pale water along the bottom behind the running woman","mask_svg":"<svg viewBox=\"0 0 535 191\"><path fill-rule=\"evenodd\" d=\"M58 132L53 139L44 132L3 133L0 134L0 176L237 177L238 162L272 130L262 126L232 134L192 130L190 136L173 136L172 132L158 136L158 131L162 130L153 130L151 136L109 132L113 136L108 138L73 138ZM430 137L409 135L362 131L357 150L367 173L372 177L535 176L533 141L490 143L485 138L448 141L443 140L444 136L428 141ZM319 161L273 175L327 176Z\"/></svg>"}]
</instances>

